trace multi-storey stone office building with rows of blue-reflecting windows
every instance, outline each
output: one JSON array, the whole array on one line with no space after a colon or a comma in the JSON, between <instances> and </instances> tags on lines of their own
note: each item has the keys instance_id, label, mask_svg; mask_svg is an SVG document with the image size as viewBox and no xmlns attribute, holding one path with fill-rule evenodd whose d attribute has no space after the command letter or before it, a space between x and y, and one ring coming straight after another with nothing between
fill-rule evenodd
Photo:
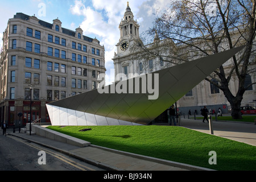
<instances>
[{"instance_id":1,"label":"multi-storey stone office building with rows of blue-reflecting windows","mask_svg":"<svg viewBox=\"0 0 256 182\"><path fill-rule=\"evenodd\" d=\"M80 27L61 27L59 19L47 23L17 13L2 40L0 115L9 125L30 121L30 99L32 121L49 122L48 102L96 89L97 77L106 71L104 46L82 35Z\"/></svg>"}]
</instances>

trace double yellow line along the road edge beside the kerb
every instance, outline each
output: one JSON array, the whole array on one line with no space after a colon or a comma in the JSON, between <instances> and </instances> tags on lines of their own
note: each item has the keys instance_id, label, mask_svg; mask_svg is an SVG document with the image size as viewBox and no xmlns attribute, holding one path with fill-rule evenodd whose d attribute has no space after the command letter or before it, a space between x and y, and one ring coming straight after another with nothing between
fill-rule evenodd
<instances>
[{"instance_id":1,"label":"double yellow line along the road edge beside the kerb","mask_svg":"<svg viewBox=\"0 0 256 182\"><path fill-rule=\"evenodd\" d=\"M68 158L66 158L66 157L63 156L63 155L56 154L56 153L54 153L54 152L52 152L52 151L49 151L49 150L47 150L46 148L41 148L41 147L35 146L34 144L24 142L24 140L18 139L18 138L16 138L16 137L13 137L13 136L10 136L10 135L8 135L8 136L9 136L10 138L13 138L13 139L15 139L15 140L18 140L19 142L22 142L22 143L24 143L24 144L27 144L28 146L33 147L33 148L35 148L35 149L37 149L37 150L44 151L44 152L46 152L47 154L52 155L52 156L54 156L55 158L60 159L60 160L62 160L63 162L65 162L65 163L67 163L67 164L70 164L71 166L80 169L81 171L96 171L95 169L92 169L92 168L90 168L90 167L87 167L87 166L84 166L84 165L82 165L82 164L80 164L80 163L77 163L77 162L75 162L75 161L73 161L73 160L71 160L71 159L68 159Z\"/></svg>"}]
</instances>

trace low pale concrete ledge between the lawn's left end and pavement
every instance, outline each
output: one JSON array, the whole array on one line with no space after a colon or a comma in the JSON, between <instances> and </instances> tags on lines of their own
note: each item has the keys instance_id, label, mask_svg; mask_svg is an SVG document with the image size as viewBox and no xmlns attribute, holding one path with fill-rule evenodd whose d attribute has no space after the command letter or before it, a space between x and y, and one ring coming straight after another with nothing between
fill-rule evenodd
<instances>
[{"instance_id":1,"label":"low pale concrete ledge between the lawn's left end and pavement","mask_svg":"<svg viewBox=\"0 0 256 182\"><path fill-rule=\"evenodd\" d=\"M86 147L90 145L90 142L86 142L85 140L71 137L69 135L59 133L57 131L49 130L42 126L32 125L31 129L36 135L39 135L40 137L49 138L52 140L72 144L74 146L79 146L79 147Z\"/></svg>"}]
</instances>

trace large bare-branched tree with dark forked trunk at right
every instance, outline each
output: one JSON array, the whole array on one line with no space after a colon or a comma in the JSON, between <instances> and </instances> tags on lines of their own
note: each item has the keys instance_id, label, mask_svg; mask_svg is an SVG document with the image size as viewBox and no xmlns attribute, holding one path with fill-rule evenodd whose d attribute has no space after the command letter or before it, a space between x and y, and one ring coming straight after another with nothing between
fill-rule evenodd
<instances>
[{"instance_id":1,"label":"large bare-branched tree with dark forked trunk at right","mask_svg":"<svg viewBox=\"0 0 256 182\"><path fill-rule=\"evenodd\" d=\"M255 6L256 0L174 1L168 10L156 14L153 27L147 30L147 35L155 37L154 43L147 44L142 38L131 48L136 56L133 59L146 60L151 56L180 64L245 46L232 57L229 69L222 65L205 78L224 92L232 107L232 117L242 118L243 94L255 84L245 85L246 75L255 72ZM232 78L239 82L236 94L229 88Z\"/></svg>"}]
</instances>

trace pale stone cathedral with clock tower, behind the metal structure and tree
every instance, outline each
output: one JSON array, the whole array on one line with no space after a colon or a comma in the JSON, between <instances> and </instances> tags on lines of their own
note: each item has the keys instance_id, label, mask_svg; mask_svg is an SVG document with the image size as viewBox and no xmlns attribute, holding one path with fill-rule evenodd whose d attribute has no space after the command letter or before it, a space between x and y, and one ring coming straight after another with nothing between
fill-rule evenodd
<instances>
[{"instance_id":1,"label":"pale stone cathedral with clock tower, behind the metal structure and tree","mask_svg":"<svg viewBox=\"0 0 256 182\"><path fill-rule=\"evenodd\" d=\"M146 61L135 58L136 56L134 56L134 54L136 54L136 51L132 51L131 46L133 43L135 43L136 39L139 39L139 24L136 20L134 20L134 15L129 7L129 4L126 7L123 19L119 24L119 30L120 38L116 44L117 52L115 52L113 57L116 82L122 80L123 76L126 76L126 78L131 78L133 75L150 73L172 66L172 64L159 59L159 57L152 59L148 58ZM234 36L236 36L236 32L234 32ZM154 41L159 41L157 34L155 35ZM147 45L147 47L153 48L154 43ZM175 45L170 41L168 44L174 49L177 47L183 50L186 49L185 46L182 48L182 45ZM255 60L251 65L255 67ZM227 61L223 66L224 69L228 71L232 66L232 63L231 61ZM246 76L246 84L251 84L252 82L256 82L255 72ZM238 81L236 78L233 78L230 81L230 90L232 90L233 94L237 92L237 85ZM203 106L207 106L208 110L217 110L220 107L222 113L228 113L230 109L230 104L223 92L206 80L201 81L200 84L195 86L195 88L180 98L176 104L181 114L185 115L188 114L189 110L191 110L192 114L194 111L197 112L196 114L200 114L200 109ZM241 106L256 106L255 84L251 85L250 88L246 90L245 94L243 95Z\"/></svg>"}]
</instances>

